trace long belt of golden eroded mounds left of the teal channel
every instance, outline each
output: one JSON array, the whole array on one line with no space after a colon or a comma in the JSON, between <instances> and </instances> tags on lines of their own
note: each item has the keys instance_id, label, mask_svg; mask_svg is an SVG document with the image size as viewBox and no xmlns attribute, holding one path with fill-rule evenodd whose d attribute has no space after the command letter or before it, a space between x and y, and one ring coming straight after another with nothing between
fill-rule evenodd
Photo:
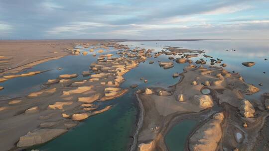
<instances>
[{"instance_id":1,"label":"long belt of golden eroded mounds left of the teal channel","mask_svg":"<svg viewBox=\"0 0 269 151\"><path fill-rule=\"evenodd\" d=\"M83 44L84 47L89 45L92 43ZM109 46L121 49L117 53L121 57L97 54L97 62L90 65L89 71L83 72L87 73L89 79L72 80L82 73L59 75L57 79L48 79L44 83L47 85L45 89L0 101L1 150L17 151L45 143L75 127L80 121L110 110L112 105L99 107L96 102L108 101L127 93L128 89L119 87L125 81L122 75L145 61L151 52L141 48L130 52L128 46L106 42L96 48L107 49ZM72 51L72 54L76 52L80 54L78 50Z\"/></svg>"}]
</instances>

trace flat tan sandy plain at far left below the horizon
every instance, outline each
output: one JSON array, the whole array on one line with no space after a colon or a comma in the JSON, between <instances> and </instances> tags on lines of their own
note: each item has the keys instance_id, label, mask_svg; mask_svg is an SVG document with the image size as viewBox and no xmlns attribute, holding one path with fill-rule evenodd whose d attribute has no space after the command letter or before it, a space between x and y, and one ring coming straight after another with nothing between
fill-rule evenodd
<instances>
[{"instance_id":1,"label":"flat tan sandy plain at far left below the horizon","mask_svg":"<svg viewBox=\"0 0 269 151\"><path fill-rule=\"evenodd\" d=\"M70 55L79 43L95 40L0 40L0 75L17 73L37 64ZM68 50L70 49L70 50Z\"/></svg>"}]
</instances>

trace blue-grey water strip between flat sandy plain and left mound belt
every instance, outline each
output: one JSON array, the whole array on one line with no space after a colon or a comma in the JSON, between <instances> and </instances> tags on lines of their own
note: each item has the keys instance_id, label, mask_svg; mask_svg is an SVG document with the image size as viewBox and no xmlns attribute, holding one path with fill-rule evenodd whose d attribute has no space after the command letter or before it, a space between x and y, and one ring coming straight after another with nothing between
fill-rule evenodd
<instances>
[{"instance_id":1,"label":"blue-grey water strip between flat sandy plain and left mound belt","mask_svg":"<svg viewBox=\"0 0 269 151\"><path fill-rule=\"evenodd\" d=\"M83 77L81 74L83 71L89 70L89 65L97 61L97 57L93 57L92 54L96 53L99 49L96 49L95 52L89 52L90 48L80 49L82 51L87 51L88 55L77 55L77 56L65 56L57 60L51 60L39 65L34 66L33 68L21 72L32 72L32 71L46 71L51 70L42 74L34 76L24 76L9 79L5 82L0 82L0 85L4 87L0 91L1 97L18 97L21 95L27 95L30 92L37 91L41 89L41 84L47 82L48 79L55 79L59 75L63 74L78 74L77 78L74 80L87 79L89 77ZM100 48L101 49L101 48ZM116 55L116 51L113 48L110 48L110 53ZM107 52L100 53L107 54ZM58 68L63 68L62 70L57 70ZM18 73L18 74L21 74Z\"/></svg>"}]
</instances>

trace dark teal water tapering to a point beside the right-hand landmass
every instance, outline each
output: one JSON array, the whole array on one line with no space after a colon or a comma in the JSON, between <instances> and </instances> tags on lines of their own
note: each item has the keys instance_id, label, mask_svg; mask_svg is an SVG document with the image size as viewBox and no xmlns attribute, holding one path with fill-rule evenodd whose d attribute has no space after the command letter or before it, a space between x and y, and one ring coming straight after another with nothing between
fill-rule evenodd
<instances>
[{"instance_id":1,"label":"dark teal water tapering to a point beside the right-hand landmass","mask_svg":"<svg viewBox=\"0 0 269 151\"><path fill-rule=\"evenodd\" d=\"M114 99L111 110L90 117L70 132L37 149L41 151L127 151L137 110L132 92ZM36 148L34 148L36 149Z\"/></svg>"}]
</instances>

